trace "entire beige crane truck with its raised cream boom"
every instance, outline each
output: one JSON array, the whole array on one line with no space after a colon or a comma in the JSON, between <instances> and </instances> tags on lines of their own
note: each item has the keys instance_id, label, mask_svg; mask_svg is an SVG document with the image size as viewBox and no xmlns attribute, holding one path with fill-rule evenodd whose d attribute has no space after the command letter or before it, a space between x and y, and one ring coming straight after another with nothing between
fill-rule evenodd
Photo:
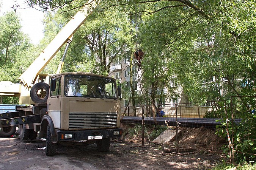
<instances>
[{"instance_id":1,"label":"entire beige crane truck with its raised cream boom","mask_svg":"<svg viewBox=\"0 0 256 170\"><path fill-rule=\"evenodd\" d=\"M46 155L55 155L61 142L83 141L108 151L111 138L121 138L121 88L112 77L93 73L61 73L66 51L75 31L92 9L88 6L72 17L38 58L20 76L20 85L0 82L0 95L19 96L16 111L0 113L0 128L19 127L21 140L46 138ZM59 49L66 49L57 74L40 74ZM13 133L13 132L12 132Z\"/></svg>"}]
</instances>

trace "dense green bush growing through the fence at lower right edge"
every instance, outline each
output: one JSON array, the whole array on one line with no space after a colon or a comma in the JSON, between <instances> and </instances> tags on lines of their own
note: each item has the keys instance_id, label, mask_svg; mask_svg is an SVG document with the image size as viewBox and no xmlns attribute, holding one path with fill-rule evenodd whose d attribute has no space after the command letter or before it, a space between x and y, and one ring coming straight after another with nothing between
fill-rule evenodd
<instances>
[{"instance_id":1,"label":"dense green bush growing through the fence at lower right edge","mask_svg":"<svg viewBox=\"0 0 256 170\"><path fill-rule=\"evenodd\" d=\"M223 120L220 121L222 122L221 125L216 126L216 134L224 139L228 139L226 132L226 129L228 129L232 145L234 146L234 150L236 150L234 153L236 162L256 161L256 157L253 155L256 152L256 142L254 140L256 139L256 134L254 133L256 130L256 115L251 113L251 109L248 108L248 104L250 103L255 105L253 96L240 98L233 97L232 109L227 109L228 115L226 115L225 112L221 110L206 114L207 116L212 116L212 114L214 114L213 116L220 116L223 118ZM240 119L241 122L233 122L231 120L231 113L234 119ZM229 121L226 121L227 116ZM223 152L229 154L229 144L223 146Z\"/></svg>"}]
</instances>

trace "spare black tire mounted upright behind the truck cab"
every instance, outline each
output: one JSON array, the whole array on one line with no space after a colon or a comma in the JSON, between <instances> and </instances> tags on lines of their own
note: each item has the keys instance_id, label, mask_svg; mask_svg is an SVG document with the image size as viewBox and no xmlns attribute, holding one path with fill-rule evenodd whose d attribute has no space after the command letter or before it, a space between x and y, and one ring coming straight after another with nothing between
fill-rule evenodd
<instances>
[{"instance_id":1,"label":"spare black tire mounted upright behind the truck cab","mask_svg":"<svg viewBox=\"0 0 256 170\"><path fill-rule=\"evenodd\" d=\"M49 90L49 84L44 82L36 83L30 90L31 100L36 104L46 104L49 96Z\"/></svg>"}]
</instances>

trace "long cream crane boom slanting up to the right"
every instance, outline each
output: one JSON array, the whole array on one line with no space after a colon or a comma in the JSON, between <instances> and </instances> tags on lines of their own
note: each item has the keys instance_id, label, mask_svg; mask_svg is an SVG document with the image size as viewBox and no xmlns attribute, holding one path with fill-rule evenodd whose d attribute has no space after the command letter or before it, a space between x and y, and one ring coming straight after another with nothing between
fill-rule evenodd
<instances>
[{"instance_id":1,"label":"long cream crane boom slanting up to the right","mask_svg":"<svg viewBox=\"0 0 256 170\"><path fill-rule=\"evenodd\" d=\"M82 11L72 17L72 19L61 29L57 36L49 43L49 45L41 52L41 54L35 59L33 63L27 68L27 70L19 77L19 80L23 83L25 88L31 88L35 82L38 74L44 69L44 67L50 62L60 48L66 43L72 40L72 36L77 29L85 22L88 16L93 12L93 9L97 8L99 2L90 0L88 5L83 8Z\"/></svg>"}]
</instances>

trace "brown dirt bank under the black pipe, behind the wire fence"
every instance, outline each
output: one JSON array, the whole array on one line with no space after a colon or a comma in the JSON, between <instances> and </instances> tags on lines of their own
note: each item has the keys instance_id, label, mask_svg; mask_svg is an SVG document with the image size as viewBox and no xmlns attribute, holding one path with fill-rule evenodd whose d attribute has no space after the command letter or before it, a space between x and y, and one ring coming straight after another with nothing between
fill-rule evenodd
<instances>
[{"instance_id":1,"label":"brown dirt bank under the black pipe, behind the wire fence","mask_svg":"<svg viewBox=\"0 0 256 170\"><path fill-rule=\"evenodd\" d=\"M141 125L122 124L122 127L124 130L123 138L129 139L131 142L135 143L141 142L143 136ZM175 129L176 127L173 128ZM159 134L166 130L166 127L152 125L145 127L145 129L146 130L144 130L144 141L148 142L150 138L150 141L152 142ZM205 127L179 127L179 148L192 148L196 150L222 152L221 147L226 144L226 140L221 139L215 133L216 130L208 129ZM171 146L176 146L176 136L173 136L172 140L169 141L169 144Z\"/></svg>"}]
</instances>

